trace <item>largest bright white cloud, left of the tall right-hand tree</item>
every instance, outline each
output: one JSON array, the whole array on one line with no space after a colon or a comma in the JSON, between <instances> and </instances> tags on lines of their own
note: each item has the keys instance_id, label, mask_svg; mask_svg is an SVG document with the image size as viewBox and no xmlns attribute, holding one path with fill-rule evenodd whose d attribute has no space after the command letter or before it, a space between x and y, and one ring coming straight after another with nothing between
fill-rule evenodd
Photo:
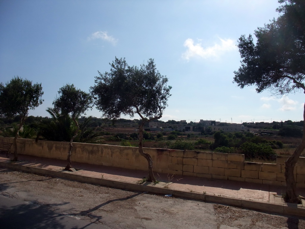
<instances>
[{"instance_id":1,"label":"largest bright white cloud, left of the tall right-hand tree","mask_svg":"<svg viewBox=\"0 0 305 229\"><path fill-rule=\"evenodd\" d=\"M204 48L199 42L194 44L193 39L188 38L184 42L184 46L187 47L185 53L182 54L182 58L189 60L191 57L199 56L201 58L218 57L221 54L231 51L236 48L235 42L231 39L221 39L221 44L214 44L213 46Z\"/></svg>"}]
</instances>

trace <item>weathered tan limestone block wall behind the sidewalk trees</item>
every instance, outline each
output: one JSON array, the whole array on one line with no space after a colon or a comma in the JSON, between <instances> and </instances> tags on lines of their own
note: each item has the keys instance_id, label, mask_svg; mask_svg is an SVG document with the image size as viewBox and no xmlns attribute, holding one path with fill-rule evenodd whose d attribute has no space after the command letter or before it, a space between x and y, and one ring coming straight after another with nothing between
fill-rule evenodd
<instances>
[{"instance_id":1,"label":"weathered tan limestone block wall behind the sidewalk trees","mask_svg":"<svg viewBox=\"0 0 305 229\"><path fill-rule=\"evenodd\" d=\"M0 142L13 138L0 137ZM72 162L147 170L147 161L137 147L73 143ZM18 139L17 152L44 158L66 160L68 142ZM278 156L275 164L245 162L244 154L183 151L144 148L152 156L156 173L197 176L211 179L235 180L258 184L285 186L285 160ZM13 152L13 147L11 148ZM300 157L295 170L297 187L305 188L305 158Z\"/></svg>"}]
</instances>

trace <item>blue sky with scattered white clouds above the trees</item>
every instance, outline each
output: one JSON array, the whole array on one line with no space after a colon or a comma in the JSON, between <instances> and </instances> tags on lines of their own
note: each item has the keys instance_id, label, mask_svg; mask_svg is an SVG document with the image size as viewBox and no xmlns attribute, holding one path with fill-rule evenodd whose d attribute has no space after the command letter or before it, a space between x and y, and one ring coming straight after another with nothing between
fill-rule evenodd
<instances>
[{"instance_id":1,"label":"blue sky with scattered white clouds above the trees","mask_svg":"<svg viewBox=\"0 0 305 229\"><path fill-rule=\"evenodd\" d=\"M300 121L303 93L275 97L232 83L238 38L278 17L278 6L277 0L2 0L0 81L18 75L42 83L45 101L30 115L45 117L60 87L73 83L88 92L115 56L137 66L153 58L173 87L163 121Z\"/></svg>"}]
</instances>

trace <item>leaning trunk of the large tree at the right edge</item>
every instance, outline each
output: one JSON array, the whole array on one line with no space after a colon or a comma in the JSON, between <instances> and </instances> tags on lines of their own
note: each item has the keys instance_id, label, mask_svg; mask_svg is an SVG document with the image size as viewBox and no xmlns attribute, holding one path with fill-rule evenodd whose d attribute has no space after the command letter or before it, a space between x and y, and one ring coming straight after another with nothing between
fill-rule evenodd
<instances>
[{"instance_id":1,"label":"leaning trunk of the large tree at the right edge","mask_svg":"<svg viewBox=\"0 0 305 229\"><path fill-rule=\"evenodd\" d=\"M303 137L292 156L285 162L285 179L286 179L286 197L285 201L289 203L300 203L299 195L296 193L296 180L294 179L294 167L300 155L305 149L305 104L303 111Z\"/></svg>"}]
</instances>

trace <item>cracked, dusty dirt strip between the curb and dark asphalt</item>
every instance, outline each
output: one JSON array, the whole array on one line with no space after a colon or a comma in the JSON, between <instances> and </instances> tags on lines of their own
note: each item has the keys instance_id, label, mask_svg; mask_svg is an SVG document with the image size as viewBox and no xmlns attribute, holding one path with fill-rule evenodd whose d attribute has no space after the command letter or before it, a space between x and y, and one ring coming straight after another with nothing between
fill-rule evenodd
<instances>
[{"instance_id":1,"label":"cracked, dusty dirt strip between the curb and dark asphalt","mask_svg":"<svg viewBox=\"0 0 305 229\"><path fill-rule=\"evenodd\" d=\"M109 228L304 229L305 218L101 187L0 167L0 194Z\"/></svg>"}]
</instances>

